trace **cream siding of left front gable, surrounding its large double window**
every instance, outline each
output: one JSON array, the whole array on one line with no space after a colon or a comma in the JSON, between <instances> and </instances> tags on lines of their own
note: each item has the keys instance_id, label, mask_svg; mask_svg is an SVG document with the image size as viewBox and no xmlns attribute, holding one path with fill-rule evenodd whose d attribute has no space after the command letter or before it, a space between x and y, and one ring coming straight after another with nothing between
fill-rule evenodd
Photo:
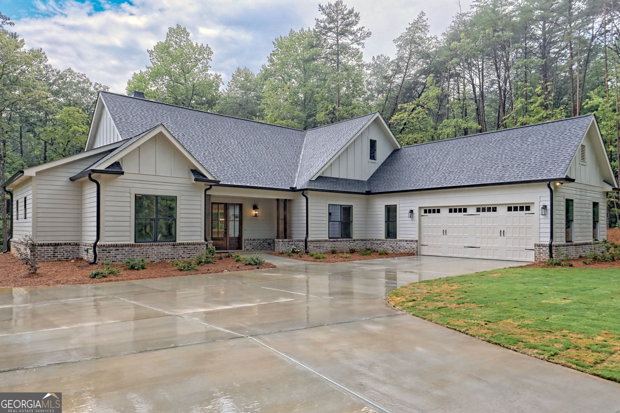
<instances>
[{"instance_id":1,"label":"cream siding of left front gable, surrounding its large double window","mask_svg":"<svg viewBox=\"0 0 620 413\"><path fill-rule=\"evenodd\" d=\"M162 134L121 160L124 175L102 176L102 243L131 243L136 194L176 196L176 240L204 240L203 183L193 181L192 165Z\"/></svg>"}]
</instances>

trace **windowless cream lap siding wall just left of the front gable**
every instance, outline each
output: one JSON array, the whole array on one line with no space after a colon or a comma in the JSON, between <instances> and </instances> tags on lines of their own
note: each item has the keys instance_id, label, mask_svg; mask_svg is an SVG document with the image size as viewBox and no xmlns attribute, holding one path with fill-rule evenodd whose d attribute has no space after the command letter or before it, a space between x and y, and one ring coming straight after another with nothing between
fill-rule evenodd
<instances>
[{"instance_id":1,"label":"windowless cream lap siding wall just left of the front gable","mask_svg":"<svg viewBox=\"0 0 620 413\"><path fill-rule=\"evenodd\" d=\"M43 170L35 176L35 233L42 242L78 242L82 238L82 181L69 178L86 169L101 154Z\"/></svg>"}]
</instances>

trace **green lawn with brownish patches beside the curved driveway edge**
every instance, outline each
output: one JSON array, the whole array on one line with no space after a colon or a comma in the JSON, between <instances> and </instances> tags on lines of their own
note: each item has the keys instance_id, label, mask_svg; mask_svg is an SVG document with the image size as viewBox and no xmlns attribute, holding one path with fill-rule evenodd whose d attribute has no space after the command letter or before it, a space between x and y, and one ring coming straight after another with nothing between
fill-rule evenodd
<instances>
[{"instance_id":1,"label":"green lawn with brownish patches beside the curved driveway edge","mask_svg":"<svg viewBox=\"0 0 620 413\"><path fill-rule=\"evenodd\" d=\"M392 291L401 310L620 381L620 270L505 268Z\"/></svg>"}]
</instances>

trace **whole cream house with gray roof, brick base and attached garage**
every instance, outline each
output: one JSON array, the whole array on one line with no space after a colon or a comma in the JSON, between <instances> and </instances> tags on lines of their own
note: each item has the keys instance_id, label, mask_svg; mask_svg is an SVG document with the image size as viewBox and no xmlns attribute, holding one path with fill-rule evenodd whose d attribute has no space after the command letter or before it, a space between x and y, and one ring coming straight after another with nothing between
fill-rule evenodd
<instances>
[{"instance_id":1,"label":"whole cream house with gray roof, brick base and attached garage","mask_svg":"<svg viewBox=\"0 0 620 413\"><path fill-rule=\"evenodd\" d=\"M15 173L40 259L293 246L534 261L606 239L593 115L401 147L378 113L302 131L100 92L84 152Z\"/></svg>"}]
</instances>

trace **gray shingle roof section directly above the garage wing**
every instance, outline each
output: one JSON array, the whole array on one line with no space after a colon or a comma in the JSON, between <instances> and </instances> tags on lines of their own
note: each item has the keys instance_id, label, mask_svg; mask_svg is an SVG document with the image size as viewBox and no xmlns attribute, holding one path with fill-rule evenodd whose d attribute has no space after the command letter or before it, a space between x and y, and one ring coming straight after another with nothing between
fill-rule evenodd
<instances>
[{"instance_id":1,"label":"gray shingle roof section directly above the garage wing","mask_svg":"<svg viewBox=\"0 0 620 413\"><path fill-rule=\"evenodd\" d=\"M406 146L369 180L373 193L563 178L594 115Z\"/></svg>"}]
</instances>

